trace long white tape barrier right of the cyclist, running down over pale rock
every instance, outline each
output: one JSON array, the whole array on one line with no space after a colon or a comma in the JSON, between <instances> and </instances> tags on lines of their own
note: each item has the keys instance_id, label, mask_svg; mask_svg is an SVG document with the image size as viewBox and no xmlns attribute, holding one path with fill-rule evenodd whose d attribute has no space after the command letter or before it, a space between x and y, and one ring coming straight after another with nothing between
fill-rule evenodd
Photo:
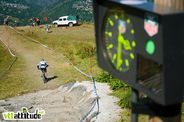
<instances>
[{"instance_id":1,"label":"long white tape barrier right of the cyclist, running down over pale rock","mask_svg":"<svg viewBox=\"0 0 184 122\"><path fill-rule=\"evenodd\" d=\"M40 45L43 46L44 48L47 48L47 49L49 49L49 50L51 50L51 51L53 51L53 52L56 52L56 50L54 50L54 49L52 49L52 48L50 48L50 47L48 47L48 46L42 44L41 42L39 42L39 41L37 41L37 40L35 40L35 39L31 38L31 37L25 36L25 35L22 34L21 32L17 31L15 28L13 28L13 27L11 27L11 26L9 26L9 27L10 27L10 29L14 30L16 33L22 35L23 37L25 37L25 38L27 38L27 39L29 39L29 40L31 40L31 41L37 43L37 44L40 44ZM66 56L64 56L63 54L62 54L62 57L64 57L64 58L67 60L67 62L73 66L73 68L74 68L75 70L77 70L77 71L78 71L79 73L81 73L82 75L84 75L84 76L90 78L90 79L92 80L92 82L93 82L94 94L95 94L95 96L96 96L96 99L95 99L96 102L94 102L94 105L92 106L92 108L81 118L81 121L80 121L80 122L82 122L83 120L85 120L85 119L88 117L88 115L92 112L92 110L94 109L94 107L95 107L96 104L97 104L97 109L98 109L96 115L98 115L100 105L99 105L99 96L98 96L98 94L97 94L97 89L96 89L96 84L95 84L95 78L92 76L92 74L88 75L88 74L86 74L85 72L83 72L81 69L79 69L78 67L74 66L74 64L70 61L70 59L68 59L68 58L67 58ZM91 62L90 62L90 63L91 63ZM91 73L92 73L92 71L91 71Z\"/></svg>"}]
</instances>

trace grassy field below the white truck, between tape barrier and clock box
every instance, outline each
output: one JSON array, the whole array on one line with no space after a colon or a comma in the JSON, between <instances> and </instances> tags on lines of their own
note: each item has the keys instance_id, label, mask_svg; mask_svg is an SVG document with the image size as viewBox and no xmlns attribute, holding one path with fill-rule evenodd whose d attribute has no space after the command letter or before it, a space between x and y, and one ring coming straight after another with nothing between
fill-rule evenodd
<instances>
[{"instance_id":1,"label":"grassy field below the white truck, between tape barrier and clock box","mask_svg":"<svg viewBox=\"0 0 184 122\"><path fill-rule=\"evenodd\" d=\"M97 76L101 72L96 62L96 45L92 24L75 27L52 27L50 33L46 33L42 26L18 29L26 36L36 39L65 55L71 61L74 57L75 66L85 73L89 74L90 72L90 59L92 60L93 75Z\"/></svg>"}]
</instances>

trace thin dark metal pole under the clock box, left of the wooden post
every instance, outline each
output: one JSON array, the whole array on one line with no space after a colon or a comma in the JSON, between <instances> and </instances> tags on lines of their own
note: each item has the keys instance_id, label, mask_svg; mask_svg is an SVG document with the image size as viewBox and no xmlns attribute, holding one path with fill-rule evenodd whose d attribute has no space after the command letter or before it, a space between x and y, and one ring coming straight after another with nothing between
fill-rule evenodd
<instances>
[{"instance_id":1,"label":"thin dark metal pole under the clock box, left of the wooden post","mask_svg":"<svg viewBox=\"0 0 184 122\"><path fill-rule=\"evenodd\" d=\"M139 98L139 93L137 90L135 90L134 88L132 88L132 103L137 103L138 102L138 98ZM138 122L138 114L132 112L131 114L131 121L132 122Z\"/></svg>"}]
</instances>

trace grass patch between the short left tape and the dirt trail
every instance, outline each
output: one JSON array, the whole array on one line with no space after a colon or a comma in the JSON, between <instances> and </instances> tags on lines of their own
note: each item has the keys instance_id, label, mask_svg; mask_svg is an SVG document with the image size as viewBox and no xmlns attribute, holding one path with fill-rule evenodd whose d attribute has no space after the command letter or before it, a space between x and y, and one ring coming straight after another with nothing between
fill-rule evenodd
<instances>
[{"instance_id":1,"label":"grass patch between the short left tape and the dirt trail","mask_svg":"<svg viewBox=\"0 0 184 122\"><path fill-rule=\"evenodd\" d=\"M13 70L10 70L6 77L1 78L0 82L0 99L17 96L21 92L28 91L28 81L22 71L24 63L18 59L13 65ZM20 77L21 76L21 77Z\"/></svg>"}]
</instances>

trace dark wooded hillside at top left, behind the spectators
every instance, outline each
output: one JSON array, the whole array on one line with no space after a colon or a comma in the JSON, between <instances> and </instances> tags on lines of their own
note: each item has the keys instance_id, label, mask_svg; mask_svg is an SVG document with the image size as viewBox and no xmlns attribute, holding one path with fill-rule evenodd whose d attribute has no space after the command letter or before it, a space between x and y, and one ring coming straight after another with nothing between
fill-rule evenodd
<instances>
[{"instance_id":1,"label":"dark wooded hillside at top left, behind the spectators","mask_svg":"<svg viewBox=\"0 0 184 122\"><path fill-rule=\"evenodd\" d=\"M40 11L40 7L25 0L0 0L0 24L9 16L10 25L23 25Z\"/></svg>"}]
</instances>

